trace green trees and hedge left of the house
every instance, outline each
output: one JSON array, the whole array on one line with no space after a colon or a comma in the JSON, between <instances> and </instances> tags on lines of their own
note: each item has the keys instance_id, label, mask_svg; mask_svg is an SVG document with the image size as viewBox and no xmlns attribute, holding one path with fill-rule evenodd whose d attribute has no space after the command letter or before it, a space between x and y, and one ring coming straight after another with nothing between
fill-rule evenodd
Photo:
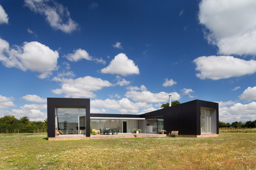
<instances>
[{"instance_id":1,"label":"green trees and hedge left of the house","mask_svg":"<svg viewBox=\"0 0 256 170\"><path fill-rule=\"evenodd\" d=\"M47 119L42 121L30 121L28 116L17 119L14 115L5 115L0 118L0 133L33 133L40 129L40 132L47 132ZM35 130L35 131L34 131ZM6 132L7 131L7 132Z\"/></svg>"}]
</instances>

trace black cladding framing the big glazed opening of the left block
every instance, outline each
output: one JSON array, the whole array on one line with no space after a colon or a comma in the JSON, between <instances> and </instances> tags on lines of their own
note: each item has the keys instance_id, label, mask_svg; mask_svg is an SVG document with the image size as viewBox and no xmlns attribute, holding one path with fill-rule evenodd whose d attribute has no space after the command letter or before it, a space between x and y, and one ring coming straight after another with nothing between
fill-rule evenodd
<instances>
[{"instance_id":1,"label":"black cladding framing the big glazed opening of the left block","mask_svg":"<svg viewBox=\"0 0 256 170\"><path fill-rule=\"evenodd\" d=\"M47 98L47 136L55 137L55 107L85 108L86 136L90 136L90 99Z\"/></svg>"}]
</instances>

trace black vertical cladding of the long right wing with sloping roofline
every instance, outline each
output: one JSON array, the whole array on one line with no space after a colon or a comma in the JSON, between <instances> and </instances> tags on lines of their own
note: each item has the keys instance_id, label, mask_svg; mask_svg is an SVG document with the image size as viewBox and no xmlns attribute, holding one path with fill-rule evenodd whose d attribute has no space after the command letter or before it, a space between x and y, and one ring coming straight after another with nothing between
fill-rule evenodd
<instances>
[{"instance_id":1,"label":"black vertical cladding of the long right wing with sloping roofline","mask_svg":"<svg viewBox=\"0 0 256 170\"><path fill-rule=\"evenodd\" d=\"M184 135L200 135L201 134L201 107L216 109L216 133L219 134L219 104L193 100L179 105L159 109L149 113L140 115L143 118L157 117L163 115L164 129L169 134L171 131L179 131Z\"/></svg>"}]
</instances>

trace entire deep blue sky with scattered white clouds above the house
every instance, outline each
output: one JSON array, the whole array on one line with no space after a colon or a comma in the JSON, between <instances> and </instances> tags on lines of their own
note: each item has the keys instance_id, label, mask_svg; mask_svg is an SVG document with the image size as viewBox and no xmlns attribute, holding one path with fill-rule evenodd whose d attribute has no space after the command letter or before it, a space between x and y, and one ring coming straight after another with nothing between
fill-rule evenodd
<instances>
[{"instance_id":1,"label":"entire deep blue sky with scattered white clouds above the house","mask_svg":"<svg viewBox=\"0 0 256 170\"><path fill-rule=\"evenodd\" d=\"M0 1L0 116L47 117L47 97L90 98L91 113L219 103L256 119L256 2Z\"/></svg>"}]
</instances>

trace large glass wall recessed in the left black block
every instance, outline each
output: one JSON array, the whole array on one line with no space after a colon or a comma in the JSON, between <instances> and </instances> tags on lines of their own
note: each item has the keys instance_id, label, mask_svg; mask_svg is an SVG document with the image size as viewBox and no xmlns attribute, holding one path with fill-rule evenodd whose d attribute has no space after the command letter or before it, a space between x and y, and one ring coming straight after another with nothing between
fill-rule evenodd
<instances>
[{"instance_id":1,"label":"large glass wall recessed in the left black block","mask_svg":"<svg viewBox=\"0 0 256 170\"><path fill-rule=\"evenodd\" d=\"M85 108L56 108L55 114L56 127L64 134L80 134L80 130L85 130Z\"/></svg>"}]
</instances>

